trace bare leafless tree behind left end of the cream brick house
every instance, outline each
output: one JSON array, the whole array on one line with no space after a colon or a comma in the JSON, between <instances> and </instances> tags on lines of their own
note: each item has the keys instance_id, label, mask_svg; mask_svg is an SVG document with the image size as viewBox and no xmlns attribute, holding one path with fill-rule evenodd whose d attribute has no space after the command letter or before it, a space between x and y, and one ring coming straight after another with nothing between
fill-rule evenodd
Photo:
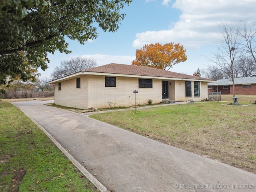
<instances>
[{"instance_id":1,"label":"bare leafless tree behind left end of the cream brick house","mask_svg":"<svg viewBox=\"0 0 256 192\"><path fill-rule=\"evenodd\" d=\"M52 79L58 79L95 66L96 61L92 58L72 57L60 62L60 66L54 68L51 76Z\"/></svg>"}]
</instances>

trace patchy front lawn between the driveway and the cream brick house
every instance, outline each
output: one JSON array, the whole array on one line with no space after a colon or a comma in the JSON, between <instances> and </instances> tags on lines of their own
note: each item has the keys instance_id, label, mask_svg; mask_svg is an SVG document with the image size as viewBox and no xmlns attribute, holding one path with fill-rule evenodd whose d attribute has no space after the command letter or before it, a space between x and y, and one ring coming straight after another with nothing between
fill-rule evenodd
<instances>
[{"instance_id":1,"label":"patchy front lawn between the driveway and the cream brick house","mask_svg":"<svg viewBox=\"0 0 256 192\"><path fill-rule=\"evenodd\" d=\"M229 97L90 117L256 174L256 104Z\"/></svg>"}]
</instances>

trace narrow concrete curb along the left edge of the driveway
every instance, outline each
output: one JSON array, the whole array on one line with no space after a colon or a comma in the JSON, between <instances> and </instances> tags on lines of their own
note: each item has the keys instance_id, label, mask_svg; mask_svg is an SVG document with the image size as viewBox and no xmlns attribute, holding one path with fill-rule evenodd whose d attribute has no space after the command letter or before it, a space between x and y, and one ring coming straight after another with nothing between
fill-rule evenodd
<instances>
[{"instance_id":1,"label":"narrow concrete curb along the left edge of the driveway","mask_svg":"<svg viewBox=\"0 0 256 192\"><path fill-rule=\"evenodd\" d=\"M19 108L20 109L20 108ZM31 118L26 112L20 109L26 116L28 116L47 136L54 142L54 144L63 152L63 154L78 168L84 176L98 189L100 192L110 192L103 184L101 184L90 172L88 172L71 154L65 150L61 144L59 144L51 134L49 134L40 124L38 124L33 118Z\"/></svg>"}]
</instances>

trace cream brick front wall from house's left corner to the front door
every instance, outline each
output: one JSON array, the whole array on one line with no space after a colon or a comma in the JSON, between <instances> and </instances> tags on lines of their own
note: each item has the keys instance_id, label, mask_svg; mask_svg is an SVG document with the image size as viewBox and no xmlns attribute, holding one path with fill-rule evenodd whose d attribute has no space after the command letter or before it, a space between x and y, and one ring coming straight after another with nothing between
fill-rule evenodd
<instances>
[{"instance_id":1,"label":"cream brick front wall from house's left corner to the front door","mask_svg":"<svg viewBox=\"0 0 256 192\"><path fill-rule=\"evenodd\" d=\"M89 108L108 108L108 102L114 103L115 106L133 106L135 105L133 90L138 90L137 105L146 104L148 99L158 103L162 98L161 80L153 80L153 88L138 88L138 78L130 77L116 77L116 87L105 87L105 76L90 76L88 82Z\"/></svg>"}]
</instances>

